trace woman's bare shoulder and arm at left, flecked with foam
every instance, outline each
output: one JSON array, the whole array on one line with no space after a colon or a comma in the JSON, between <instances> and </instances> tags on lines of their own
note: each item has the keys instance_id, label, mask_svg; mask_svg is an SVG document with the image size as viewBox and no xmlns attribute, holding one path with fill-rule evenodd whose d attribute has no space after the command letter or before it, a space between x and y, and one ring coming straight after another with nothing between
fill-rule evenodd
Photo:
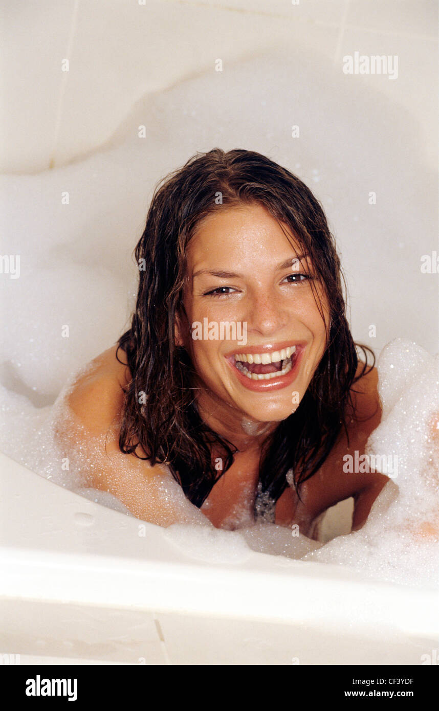
<instances>
[{"instance_id":1,"label":"woman's bare shoulder and arm at left, flecked with foam","mask_svg":"<svg viewBox=\"0 0 439 711\"><path fill-rule=\"evenodd\" d=\"M68 447L72 461L80 451L92 462L87 486L112 493L137 518L161 526L192 520L206 525L206 517L186 499L166 466L152 466L147 459L120 450L124 388L131 374L125 353L117 355L122 363L116 358L116 346L109 348L75 380L66 395L74 417L60 417L58 440Z\"/></svg>"}]
</instances>

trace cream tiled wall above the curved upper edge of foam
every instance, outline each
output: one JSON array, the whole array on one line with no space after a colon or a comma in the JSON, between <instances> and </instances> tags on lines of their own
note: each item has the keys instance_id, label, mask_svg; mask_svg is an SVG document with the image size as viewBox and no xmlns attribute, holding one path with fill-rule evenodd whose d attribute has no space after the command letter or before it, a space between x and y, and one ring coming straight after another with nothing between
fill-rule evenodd
<instances>
[{"instance_id":1,"label":"cream tiled wall above the curved upper edge of foam","mask_svg":"<svg viewBox=\"0 0 439 711\"><path fill-rule=\"evenodd\" d=\"M432 141L437 10L429 0L145 2L4 3L2 171L65 164L108 139L145 92L203 72L216 58L231 62L272 46L302 45L336 61L354 49L397 52L401 80L380 90L409 107L427 147Z\"/></svg>"}]
</instances>

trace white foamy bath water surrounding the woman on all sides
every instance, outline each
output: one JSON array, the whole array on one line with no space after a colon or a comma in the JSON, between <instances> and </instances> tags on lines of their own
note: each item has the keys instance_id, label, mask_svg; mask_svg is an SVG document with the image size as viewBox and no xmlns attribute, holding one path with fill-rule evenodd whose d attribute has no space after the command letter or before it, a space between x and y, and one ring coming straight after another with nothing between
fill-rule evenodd
<instances>
[{"instance_id":1,"label":"white foamy bath water surrounding the woman on all sides","mask_svg":"<svg viewBox=\"0 0 439 711\"><path fill-rule=\"evenodd\" d=\"M72 418L74 438L79 425L64 404L69 383L125 330L136 293L132 250L155 183L196 151L260 151L310 186L336 228L354 338L381 351L384 412L367 454L397 456L398 475L364 528L318 542L244 518L239 530L217 530L163 469L152 501L167 497L169 509L181 513L166 536L207 560L232 560L250 547L401 584L437 584L438 360L432 353L438 334L429 309L407 320L417 299L436 303L434 275L418 269L435 247L435 181L413 139L417 127L401 107L382 97L378 115L376 90L361 77L349 84L348 101L341 72L297 53L294 59L270 52L144 96L93 154L39 175L1 177L2 255L19 255L20 272L0 279L0 448L54 483L130 515L115 496L90 486L92 450L69 446L65 468L55 419ZM300 139L292 138L292 124ZM373 206L371 190L379 196ZM370 324L378 327L367 341ZM410 338L399 338L407 333Z\"/></svg>"}]
</instances>

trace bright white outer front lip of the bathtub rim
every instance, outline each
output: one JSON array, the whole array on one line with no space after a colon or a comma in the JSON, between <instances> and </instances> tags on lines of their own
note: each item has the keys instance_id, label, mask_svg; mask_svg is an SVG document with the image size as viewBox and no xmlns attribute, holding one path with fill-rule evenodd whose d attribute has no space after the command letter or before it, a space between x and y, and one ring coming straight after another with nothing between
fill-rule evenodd
<instances>
[{"instance_id":1,"label":"bright white outer front lip of the bathtub rim","mask_svg":"<svg viewBox=\"0 0 439 711\"><path fill-rule=\"evenodd\" d=\"M255 554L263 555L263 554ZM0 552L4 598L235 617L322 626L363 636L439 636L438 596L386 583L318 577L322 564L297 564L295 574L236 570L110 556L9 549ZM302 569L302 573L300 573ZM315 574L315 577L312 576ZM239 591L239 594L237 594ZM416 597L413 597L416 592ZM414 604L416 603L416 604Z\"/></svg>"}]
</instances>

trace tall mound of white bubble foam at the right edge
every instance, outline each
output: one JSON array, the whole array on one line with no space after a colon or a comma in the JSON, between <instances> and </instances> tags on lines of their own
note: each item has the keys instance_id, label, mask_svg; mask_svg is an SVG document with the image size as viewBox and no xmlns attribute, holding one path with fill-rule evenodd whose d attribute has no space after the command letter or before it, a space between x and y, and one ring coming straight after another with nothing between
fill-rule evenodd
<instances>
[{"instance_id":1,"label":"tall mound of white bubble foam at the right edge","mask_svg":"<svg viewBox=\"0 0 439 711\"><path fill-rule=\"evenodd\" d=\"M302 560L348 565L401 584L437 585L438 355L396 338L381 352L377 369L383 415L366 454L398 457L398 476L386 483L361 530Z\"/></svg>"}]
</instances>

